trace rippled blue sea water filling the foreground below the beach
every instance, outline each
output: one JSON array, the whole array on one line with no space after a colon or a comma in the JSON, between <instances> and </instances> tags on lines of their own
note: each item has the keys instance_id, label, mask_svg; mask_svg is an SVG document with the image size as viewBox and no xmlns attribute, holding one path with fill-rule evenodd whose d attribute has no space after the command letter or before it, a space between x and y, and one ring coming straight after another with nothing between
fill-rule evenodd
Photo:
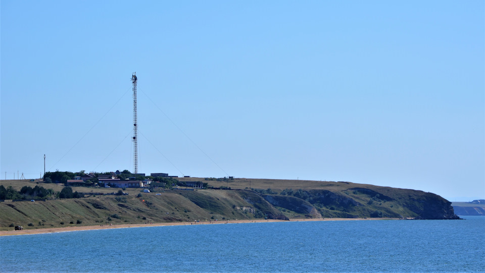
<instances>
[{"instance_id":1,"label":"rippled blue sea water filling the foreground below the beach","mask_svg":"<svg viewBox=\"0 0 485 273\"><path fill-rule=\"evenodd\" d=\"M187 225L0 237L1 272L480 272L485 217Z\"/></svg>"}]
</instances>

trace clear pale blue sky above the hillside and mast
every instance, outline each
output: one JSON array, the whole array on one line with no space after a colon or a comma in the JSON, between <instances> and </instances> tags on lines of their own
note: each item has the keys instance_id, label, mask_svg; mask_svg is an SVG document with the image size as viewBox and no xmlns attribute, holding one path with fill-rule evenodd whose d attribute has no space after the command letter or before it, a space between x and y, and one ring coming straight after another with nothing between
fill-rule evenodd
<instances>
[{"instance_id":1,"label":"clear pale blue sky above the hillside and mast","mask_svg":"<svg viewBox=\"0 0 485 273\"><path fill-rule=\"evenodd\" d=\"M1 2L0 178L351 181L485 198L483 1Z\"/></svg>"}]
</instances>

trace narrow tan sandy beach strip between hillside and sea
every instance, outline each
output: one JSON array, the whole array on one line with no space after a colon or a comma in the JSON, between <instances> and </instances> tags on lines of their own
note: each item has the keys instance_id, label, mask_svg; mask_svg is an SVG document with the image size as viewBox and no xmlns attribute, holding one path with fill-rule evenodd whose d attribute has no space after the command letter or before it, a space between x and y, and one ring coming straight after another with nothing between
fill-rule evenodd
<instances>
[{"instance_id":1,"label":"narrow tan sandy beach strip between hillside and sea","mask_svg":"<svg viewBox=\"0 0 485 273\"><path fill-rule=\"evenodd\" d=\"M312 222L312 221L375 221L375 220L399 220L399 218L320 218L320 219L291 219L287 220L229 220L229 221L207 221L207 222L178 222L178 223L153 223L153 224L121 224L121 225L103 225L103 226L81 226L65 228L45 228L32 230L12 230L0 231L0 236L30 235L59 233L86 230L106 230L106 229L127 229L127 228L144 228L144 227L164 227L164 226L190 226L190 225L220 225L220 224L248 224L248 223L274 223L274 222Z\"/></svg>"}]
</instances>

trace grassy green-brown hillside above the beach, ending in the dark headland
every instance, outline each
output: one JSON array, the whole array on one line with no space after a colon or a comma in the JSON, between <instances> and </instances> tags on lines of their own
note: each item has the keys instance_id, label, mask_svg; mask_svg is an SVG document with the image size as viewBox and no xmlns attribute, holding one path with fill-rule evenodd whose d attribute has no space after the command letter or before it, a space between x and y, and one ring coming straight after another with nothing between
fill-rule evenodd
<instances>
[{"instance_id":1,"label":"grassy green-brown hillside above the beach, ending in the dark headland","mask_svg":"<svg viewBox=\"0 0 485 273\"><path fill-rule=\"evenodd\" d=\"M76 225L140 224L304 217L413 217L458 219L451 202L433 193L350 182L179 178L208 183L215 189L154 189L129 195L108 195L115 188L72 187L85 197L0 202L0 229ZM60 192L62 184L41 180L3 180L0 185L20 191L41 186ZM221 189L223 188L223 189ZM230 189L229 189L230 188ZM92 194L91 194L92 193ZM103 195L94 195L103 193ZM158 194L158 195L157 195Z\"/></svg>"}]
</instances>

